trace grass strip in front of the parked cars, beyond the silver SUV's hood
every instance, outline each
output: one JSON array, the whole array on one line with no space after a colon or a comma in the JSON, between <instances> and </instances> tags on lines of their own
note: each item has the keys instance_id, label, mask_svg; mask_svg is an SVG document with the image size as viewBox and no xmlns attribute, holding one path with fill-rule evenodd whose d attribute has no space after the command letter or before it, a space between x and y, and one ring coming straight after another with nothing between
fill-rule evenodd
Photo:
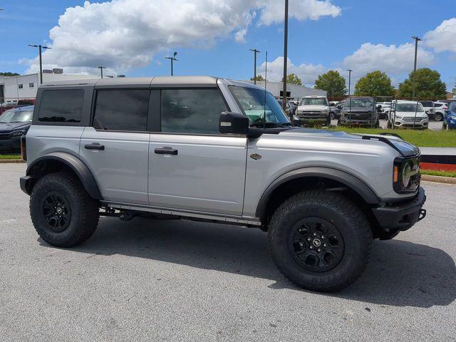
<instances>
[{"instance_id":1,"label":"grass strip in front of the parked cars, beyond the silver SUV's hood","mask_svg":"<svg viewBox=\"0 0 456 342\"><path fill-rule=\"evenodd\" d=\"M403 140L418 147L456 147L456 130L383 130L375 128L348 128L333 127L333 130L342 130L347 133L395 133Z\"/></svg>"}]
</instances>

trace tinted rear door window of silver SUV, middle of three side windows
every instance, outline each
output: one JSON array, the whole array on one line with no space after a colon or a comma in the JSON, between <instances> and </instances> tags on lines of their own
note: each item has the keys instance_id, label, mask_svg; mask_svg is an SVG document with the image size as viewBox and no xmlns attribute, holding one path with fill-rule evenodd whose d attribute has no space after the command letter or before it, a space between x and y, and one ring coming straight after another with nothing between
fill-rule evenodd
<instances>
[{"instance_id":1,"label":"tinted rear door window of silver SUV, middle of three side windows","mask_svg":"<svg viewBox=\"0 0 456 342\"><path fill-rule=\"evenodd\" d=\"M98 90L93 127L98 130L147 130L148 89Z\"/></svg>"}]
</instances>

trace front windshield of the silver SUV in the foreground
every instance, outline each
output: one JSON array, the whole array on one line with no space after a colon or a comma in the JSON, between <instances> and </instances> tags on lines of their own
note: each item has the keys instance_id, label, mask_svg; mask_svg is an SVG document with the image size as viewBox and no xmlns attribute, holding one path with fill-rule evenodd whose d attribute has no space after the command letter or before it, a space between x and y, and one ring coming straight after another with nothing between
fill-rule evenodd
<instances>
[{"instance_id":1,"label":"front windshield of the silver SUV in the foreground","mask_svg":"<svg viewBox=\"0 0 456 342\"><path fill-rule=\"evenodd\" d=\"M237 99L242 112L249 118L251 126L263 124L264 118L266 123L274 124L276 127L291 125L281 106L269 91L265 94L261 89L237 86L230 86L229 89Z\"/></svg>"}]
</instances>

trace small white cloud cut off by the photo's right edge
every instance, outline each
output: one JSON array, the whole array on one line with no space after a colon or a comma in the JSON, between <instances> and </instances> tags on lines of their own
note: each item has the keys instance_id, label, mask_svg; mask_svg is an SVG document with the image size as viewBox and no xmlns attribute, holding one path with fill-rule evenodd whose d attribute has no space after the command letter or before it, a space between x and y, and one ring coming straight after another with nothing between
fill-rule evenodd
<instances>
[{"instance_id":1,"label":"small white cloud cut off by the photo's right edge","mask_svg":"<svg viewBox=\"0 0 456 342\"><path fill-rule=\"evenodd\" d=\"M435 52L456 53L456 18L444 20L435 30L427 32L423 43L433 48Z\"/></svg>"}]
</instances>

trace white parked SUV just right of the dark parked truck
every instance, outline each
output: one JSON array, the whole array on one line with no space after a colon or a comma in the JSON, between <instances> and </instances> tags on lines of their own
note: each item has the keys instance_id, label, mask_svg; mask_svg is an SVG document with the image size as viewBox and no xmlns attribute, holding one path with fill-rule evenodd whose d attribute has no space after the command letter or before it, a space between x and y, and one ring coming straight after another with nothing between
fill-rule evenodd
<instances>
[{"instance_id":1,"label":"white parked SUV just right of the dark parked truck","mask_svg":"<svg viewBox=\"0 0 456 342\"><path fill-rule=\"evenodd\" d=\"M388 114L388 128L427 128L429 117L417 101L398 100Z\"/></svg>"}]
</instances>

